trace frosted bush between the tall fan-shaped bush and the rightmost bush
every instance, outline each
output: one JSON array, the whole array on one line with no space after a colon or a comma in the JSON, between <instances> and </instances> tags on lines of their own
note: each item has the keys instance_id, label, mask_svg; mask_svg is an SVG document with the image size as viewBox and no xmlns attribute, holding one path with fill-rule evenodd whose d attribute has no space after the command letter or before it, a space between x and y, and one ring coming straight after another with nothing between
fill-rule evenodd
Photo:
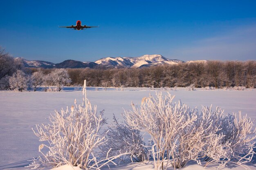
<instances>
[{"instance_id":1,"label":"frosted bush between the tall fan-shaped bush and the rightmost bush","mask_svg":"<svg viewBox=\"0 0 256 170\"><path fill-rule=\"evenodd\" d=\"M203 107L201 112L194 111L196 119L189 126L178 132L175 150L173 151L173 166L182 168L189 160L197 161L205 157L204 150L209 148L209 140L213 141L220 128L223 111L216 108ZM190 119L190 118L188 118ZM220 134L223 137L222 134Z\"/></svg>"}]
</instances>

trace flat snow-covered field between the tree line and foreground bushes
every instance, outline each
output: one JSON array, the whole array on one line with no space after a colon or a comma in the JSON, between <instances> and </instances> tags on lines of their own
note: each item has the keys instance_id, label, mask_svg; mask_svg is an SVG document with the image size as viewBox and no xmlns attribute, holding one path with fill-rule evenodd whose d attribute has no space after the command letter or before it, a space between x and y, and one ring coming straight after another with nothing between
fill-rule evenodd
<instances>
[{"instance_id":1,"label":"flat snow-covered field between the tree line and foreground bushes","mask_svg":"<svg viewBox=\"0 0 256 170\"><path fill-rule=\"evenodd\" d=\"M155 95L159 89L150 88L127 88L124 91L116 91L115 88L108 91L95 91L94 88L88 88L88 99L92 105L97 105L98 111L104 109L105 117L112 121L113 113L121 121L121 113L124 109L129 110L130 102L140 104L141 99L148 94ZM178 91L171 91L175 95L174 101L182 100L190 108L213 105L221 107L225 113L247 114L252 119L256 119L256 90L229 91L213 90L186 91L185 88L179 88ZM166 91L163 91L166 94ZM59 111L62 107L66 108L74 103L82 102L82 93L73 91L72 88L65 88L64 92L0 92L0 170L1 169L27 169L24 168L29 162L27 160L39 155L38 146L40 142L31 130L35 124L48 123L47 117ZM145 137L146 138L146 137ZM201 169L202 167L189 162L190 166L184 170ZM192 164L192 165L191 165ZM249 164L251 169L256 170L256 162ZM23 168L22 168L23 167ZM220 169L243 169L242 167L231 166ZM113 169L153 169L153 165L147 163L134 163L131 165L122 165ZM216 169L209 167L207 169Z\"/></svg>"}]
</instances>

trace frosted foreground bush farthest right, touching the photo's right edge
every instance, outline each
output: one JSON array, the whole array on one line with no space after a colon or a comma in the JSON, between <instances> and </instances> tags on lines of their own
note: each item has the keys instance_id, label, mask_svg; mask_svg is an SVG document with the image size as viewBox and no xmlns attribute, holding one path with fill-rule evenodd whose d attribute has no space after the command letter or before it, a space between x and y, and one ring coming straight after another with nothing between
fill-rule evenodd
<instances>
[{"instance_id":1,"label":"frosted foreground bush farthest right, touching the photo's right edge","mask_svg":"<svg viewBox=\"0 0 256 170\"><path fill-rule=\"evenodd\" d=\"M219 121L221 129L216 133L218 139L210 140L205 150L208 157L205 166L228 162L242 165L252 161L256 138L253 122L247 116L242 116L241 112L222 117Z\"/></svg>"}]
</instances>

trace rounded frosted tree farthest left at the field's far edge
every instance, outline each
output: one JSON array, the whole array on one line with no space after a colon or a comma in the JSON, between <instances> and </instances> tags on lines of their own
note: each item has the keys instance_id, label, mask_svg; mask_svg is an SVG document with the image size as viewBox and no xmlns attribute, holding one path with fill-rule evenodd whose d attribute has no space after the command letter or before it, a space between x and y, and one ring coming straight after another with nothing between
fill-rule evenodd
<instances>
[{"instance_id":1,"label":"rounded frosted tree farthest left at the field's far edge","mask_svg":"<svg viewBox=\"0 0 256 170\"><path fill-rule=\"evenodd\" d=\"M23 90L27 90L29 86L29 78L22 70L17 70L9 78L9 84L11 89L17 89L22 92Z\"/></svg>"}]
</instances>

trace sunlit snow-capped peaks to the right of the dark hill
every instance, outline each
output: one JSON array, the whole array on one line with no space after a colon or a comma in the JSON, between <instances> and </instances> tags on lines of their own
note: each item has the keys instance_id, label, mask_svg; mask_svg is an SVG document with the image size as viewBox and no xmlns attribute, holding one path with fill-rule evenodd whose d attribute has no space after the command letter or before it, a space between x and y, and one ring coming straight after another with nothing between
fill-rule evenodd
<instances>
[{"instance_id":1,"label":"sunlit snow-capped peaks to the right of the dark hill","mask_svg":"<svg viewBox=\"0 0 256 170\"><path fill-rule=\"evenodd\" d=\"M152 65L163 65L163 64L177 64L184 63L184 61L177 59L167 59L159 54L144 55L141 57L106 57L95 61L99 65L106 67L131 67L140 68Z\"/></svg>"}]
</instances>

